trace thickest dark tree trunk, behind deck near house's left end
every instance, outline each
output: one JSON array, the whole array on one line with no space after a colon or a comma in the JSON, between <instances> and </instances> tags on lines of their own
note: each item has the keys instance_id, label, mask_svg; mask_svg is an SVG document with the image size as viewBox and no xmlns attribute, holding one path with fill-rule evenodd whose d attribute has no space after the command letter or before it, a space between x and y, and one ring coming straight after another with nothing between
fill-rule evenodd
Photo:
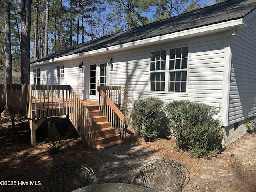
<instances>
[{"instance_id":1,"label":"thickest dark tree trunk, behind deck near house's left end","mask_svg":"<svg viewBox=\"0 0 256 192\"><path fill-rule=\"evenodd\" d=\"M20 45L20 83L29 84L30 62L30 27L31 27L32 0L22 0L21 8L21 45Z\"/></svg>"}]
</instances>

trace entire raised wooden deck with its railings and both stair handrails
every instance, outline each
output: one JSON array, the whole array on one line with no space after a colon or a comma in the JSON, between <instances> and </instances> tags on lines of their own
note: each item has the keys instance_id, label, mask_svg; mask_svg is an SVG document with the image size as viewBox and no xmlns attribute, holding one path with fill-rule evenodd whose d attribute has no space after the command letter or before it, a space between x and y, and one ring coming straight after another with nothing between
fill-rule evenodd
<instances>
[{"instance_id":1,"label":"entire raised wooden deck with its railings and both stair handrails","mask_svg":"<svg viewBox=\"0 0 256 192\"><path fill-rule=\"evenodd\" d=\"M0 111L11 112L12 130L14 114L28 118L32 146L36 145L36 129L47 117L66 115L84 143L96 149L98 117L88 108L94 106L101 111L101 119L106 119L119 137L124 138L126 118L117 107L120 106L120 90L120 86L98 86L100 101L90 101L81 100L69 85L0 84Z\"/></svg>"}]
</instances>

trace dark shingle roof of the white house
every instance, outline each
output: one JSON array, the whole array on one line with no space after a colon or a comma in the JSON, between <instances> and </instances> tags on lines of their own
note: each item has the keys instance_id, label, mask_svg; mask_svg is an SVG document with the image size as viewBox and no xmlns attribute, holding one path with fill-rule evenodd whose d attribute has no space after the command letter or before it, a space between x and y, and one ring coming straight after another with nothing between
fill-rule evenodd
<instances>
[{"instance_id":1,"label":"dark shingle roof of the white house","mask_svg":"<svg viewBox=\"0 0 256 192\"><path fill-rule=\"evenodd\" d=\"M243 18L255 8L256 0L229 0L138 28L77 44L34 62L236 20Z\"/></svg>"}]
</instances>

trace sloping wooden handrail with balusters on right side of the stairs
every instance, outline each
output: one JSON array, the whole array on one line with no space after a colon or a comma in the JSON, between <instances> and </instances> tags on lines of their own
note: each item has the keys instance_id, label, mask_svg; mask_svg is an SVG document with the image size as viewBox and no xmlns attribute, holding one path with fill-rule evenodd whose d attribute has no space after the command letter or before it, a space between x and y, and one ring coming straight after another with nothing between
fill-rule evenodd
<instances>
[{"instance_id":1,"label":"sloping wooden handrail with balusters on right side of the stairs","mask_svg":"<svg viewBox=\"0 0 256 192\"><path fill-rule=\"evenodd\" d=\"M97 86L97 91L100 94L99 109L102 111L102 115L107 117L107 121L111 123L111 127L116 128L116 132L120 134L121 139L126 140L126 117L100 86Z\"/></svg>"}]
</instances>

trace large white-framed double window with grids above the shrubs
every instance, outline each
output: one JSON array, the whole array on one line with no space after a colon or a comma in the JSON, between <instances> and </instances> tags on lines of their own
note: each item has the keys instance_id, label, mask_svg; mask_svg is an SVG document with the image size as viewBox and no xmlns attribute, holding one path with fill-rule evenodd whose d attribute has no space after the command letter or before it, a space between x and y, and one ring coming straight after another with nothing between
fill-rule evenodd
<instances>
[{"instance_id":1,"label":"large white-framed double window with grids above the shrubs","mask_svg":"<svg viewBox=\"0 0 256 192\"><path fill-rule=\"evenodd\" d=\"M188 47L151 52L150 91L186 92Z\"/></svg>"}]
</instances>

